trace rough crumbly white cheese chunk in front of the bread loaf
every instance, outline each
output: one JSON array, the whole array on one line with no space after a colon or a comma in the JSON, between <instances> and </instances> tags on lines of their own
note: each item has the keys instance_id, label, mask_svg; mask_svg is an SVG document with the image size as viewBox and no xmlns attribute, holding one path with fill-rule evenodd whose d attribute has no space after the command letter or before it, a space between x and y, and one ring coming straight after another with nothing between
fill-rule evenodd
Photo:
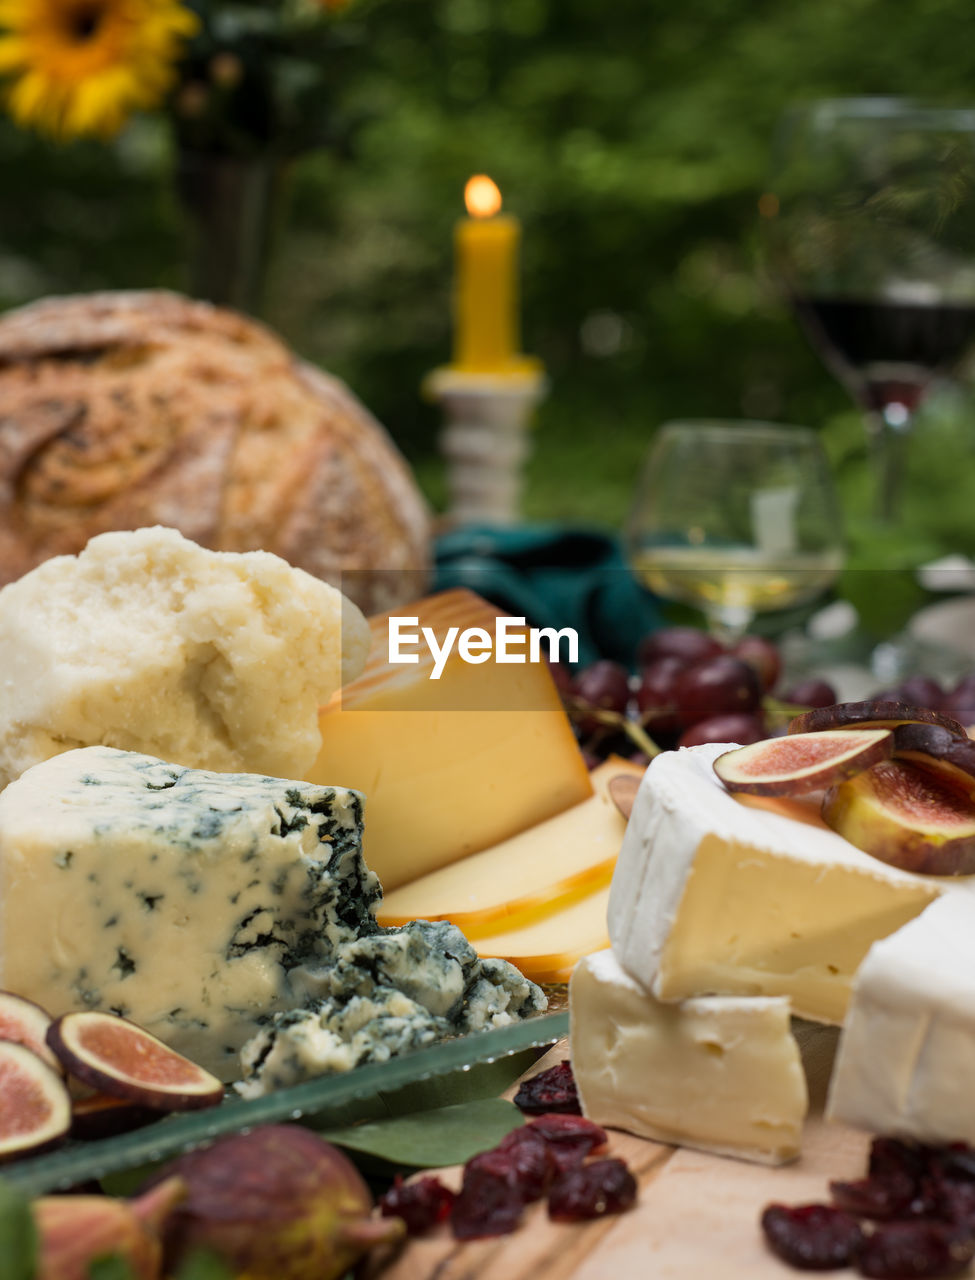
<instances>
[{"instance_id":1,"label":"rough crumbly white cheese chunk in front of the bread loaf","mask_svg":"<svg viewBox=\"0 0 975 1280\"><path fill-rule=\"evenodd\" d=\"M101 534L0 591L0 786L96 744L301 777L367 652L358 609L276 556Z\"/></svg>"}]
</instances>

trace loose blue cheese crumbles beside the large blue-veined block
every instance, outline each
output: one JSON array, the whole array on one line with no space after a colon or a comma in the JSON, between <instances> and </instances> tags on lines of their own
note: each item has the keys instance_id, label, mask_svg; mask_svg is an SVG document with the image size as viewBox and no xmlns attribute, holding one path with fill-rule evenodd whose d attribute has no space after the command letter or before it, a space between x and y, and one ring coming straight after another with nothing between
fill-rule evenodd
<instances>
[{"instance_id":1,"label":"loose blue cheese crumbles beside the large blue-veined block","mask_svg":"<svg viewBox=\"0 0 975 1280\"><path fill-rule=\"evenodd\" d=\"M292 989L310 1007L276 1014L241 1052L238 1091L247 1098L507 1027L546 1006L513 965L479 960L456 925L427 920L342 943L324 964L296 970Z\"/></svg>"}]
</instances>

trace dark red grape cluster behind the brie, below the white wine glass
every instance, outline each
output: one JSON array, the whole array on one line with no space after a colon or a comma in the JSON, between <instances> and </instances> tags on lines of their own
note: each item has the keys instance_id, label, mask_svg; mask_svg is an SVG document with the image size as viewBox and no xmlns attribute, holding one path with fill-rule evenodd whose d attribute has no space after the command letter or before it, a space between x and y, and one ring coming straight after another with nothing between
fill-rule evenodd
<instances>
[{"instance_id":1,"label":"dark red grape cluster behind the brie, below the white wine glass","mask_svg":"<svg viewBox=\"0 0 975 1280\"><path fill-rule=\"evenodd\" d=\"M613 751L645 762L673 746L759 742L796 709L837 700L823 680L773 696L781 673L779 652L769 640L743 636L725 649L695 627L645 636L636 676L608 659L575 676L553 669L590 765Z\"/></svg>"}]
</instances>

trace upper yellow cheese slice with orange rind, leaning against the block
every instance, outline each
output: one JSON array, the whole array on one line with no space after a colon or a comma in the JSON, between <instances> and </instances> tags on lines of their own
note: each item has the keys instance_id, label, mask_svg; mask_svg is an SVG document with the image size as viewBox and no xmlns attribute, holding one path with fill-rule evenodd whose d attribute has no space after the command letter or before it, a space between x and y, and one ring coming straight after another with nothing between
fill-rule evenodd
<instances>
[{"instance_id":1,"label":"upper yellow cheese slice with orange rind, leaning against the block","mask_svg":"<svg viewBox=\"0 0 975 1280\"><path fill-rule=\"evenodd\" d=\"M531 924L605 888L626 831L626 818L609 797L609 781L642 773L640 765L610 756L590 774L595 794L589 800L393 890L380 905L379 923L452 920L468 938L477 938ZM560 950L571 950L571 943L567 938Z\"/></svg>"}]
</instances>

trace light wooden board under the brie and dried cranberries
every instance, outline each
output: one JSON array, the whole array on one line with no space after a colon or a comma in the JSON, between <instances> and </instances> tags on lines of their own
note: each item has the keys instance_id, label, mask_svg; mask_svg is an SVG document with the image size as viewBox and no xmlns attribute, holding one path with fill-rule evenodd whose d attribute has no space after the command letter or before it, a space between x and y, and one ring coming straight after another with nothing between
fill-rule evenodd
<instances>
[{"instance_id":1,"label":"light wooden board under the brie and dried cranberries","mask_svg":"<svg viewBox=\"0 0 975 1280\"><path fill-rule=\"evenodd\" d=\"M530 1073L568 1056L559 1044ZM594 1222L550 1222L532 1204L512 1235L458 1243L447 1228L411 1240L392 1260L374 1260L370 1280L789 1280L759 1229L770 1201L827 1199L833 1178L862 1176L869 1137L812 1114L802 1156L769 1169L610 1132L609 1155L640 1184L627 1213ZM438 1171L459 1185L459 1169Z\"/></svg>"}]
</instances>

